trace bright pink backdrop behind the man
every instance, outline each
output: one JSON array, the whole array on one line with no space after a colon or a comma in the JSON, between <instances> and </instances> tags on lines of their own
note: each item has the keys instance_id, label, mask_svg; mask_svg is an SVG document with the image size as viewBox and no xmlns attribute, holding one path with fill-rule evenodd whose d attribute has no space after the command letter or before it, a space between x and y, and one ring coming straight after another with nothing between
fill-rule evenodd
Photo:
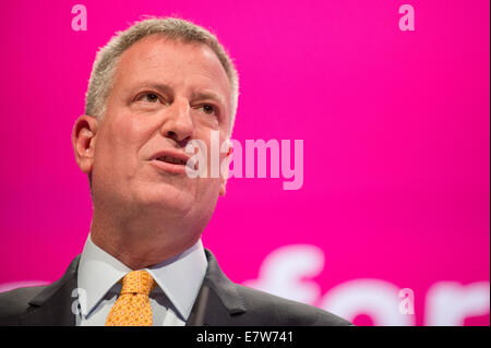
<instances>
[{"instance_id":1,"label":"bright pink backdrop behind the man","mask_svg":"<svg viewBox=\"0 0 491 348\"><path fill-rule=\"evenodd\" d=\"M71 28L76 3L87 9L86 32ZM404 3L415 8L415 32L398 28ZM315 305L336 286L378 279L412 289L409 321L429 325L428 295L441 281L483 284L489 297L489 7L2 2L0 285L56 280L82 251L92 208L70 134L95 52L143 14L178 14L214 31L237 62L233 139L304 144L301 190L231 179L220 199L203 242L232 280L256 279L275 250L307 244L325 257L299 279L315 285L307 301ZM460 324L490 324L489 299L477 307ZM349 319L381 324L359 314Z\"/></svg>"}]
</instances>

